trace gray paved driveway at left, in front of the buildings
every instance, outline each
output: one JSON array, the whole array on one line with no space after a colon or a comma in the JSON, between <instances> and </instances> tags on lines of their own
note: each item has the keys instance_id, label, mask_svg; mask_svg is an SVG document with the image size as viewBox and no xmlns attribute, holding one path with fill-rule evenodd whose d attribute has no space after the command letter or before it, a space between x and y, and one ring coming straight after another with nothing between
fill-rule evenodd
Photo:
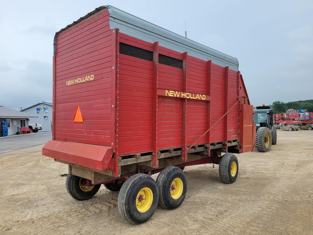
<instances>
[{"instance_id":1,"label":"gray paved driveway at left, in front of the buildings","mask_svg":"<svg viewBox=\"0 0 313 235\"><path fill-rule=\"evenodd\" d=\"M18 135L0 138L0 154L18 149L25 149L39 144L45 144L52 139L52 132L38 132L31 135Z\"/></svg>"}]
</instances>

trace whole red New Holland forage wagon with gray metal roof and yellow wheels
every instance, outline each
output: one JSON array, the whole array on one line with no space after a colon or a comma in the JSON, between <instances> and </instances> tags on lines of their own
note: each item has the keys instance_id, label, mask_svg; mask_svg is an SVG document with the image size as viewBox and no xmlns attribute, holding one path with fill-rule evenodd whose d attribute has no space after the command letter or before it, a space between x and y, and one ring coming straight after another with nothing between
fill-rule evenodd
<instances>
[{"instance_id":1,"label":"whole red New Holland forage wagon with gray metal roof and yellow wheels","mask_svg":"<svg viewBox=\"0 0 313 235\"><path fill-rule=\"evenodd\" d=\"M233 183L233 153L253 151L255 134L237 59L112 6L56 33L43 155L69 165L73 198L104 184L120 191L126 221L145 222L157 205L182 204L185 166L219 164L221 181Z\"/></svg>"}]
</instances>

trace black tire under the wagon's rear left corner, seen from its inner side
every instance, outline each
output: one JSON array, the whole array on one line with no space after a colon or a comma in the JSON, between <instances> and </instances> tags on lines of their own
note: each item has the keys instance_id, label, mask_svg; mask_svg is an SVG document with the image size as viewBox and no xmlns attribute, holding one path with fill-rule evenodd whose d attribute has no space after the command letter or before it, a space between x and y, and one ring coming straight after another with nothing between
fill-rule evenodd
<instances>
[{"instance_id":1,"label":"black tire under the wagon's rear left corner, seen from its inner side","mask_svg":"<svg viewBox=\"0 0 313 235\"><path fill-rule=\"evenodd\" d=\"M95 194L100 189L101 185L93 185L90 186L92 188L86 188L85 191L82 190L81 187L84 185L84 178L78 177L76 175L67 176L66 177L66 190L69 195L71 195L74 199L83 201L95 196Z\"/></svg>"}]
</instances>

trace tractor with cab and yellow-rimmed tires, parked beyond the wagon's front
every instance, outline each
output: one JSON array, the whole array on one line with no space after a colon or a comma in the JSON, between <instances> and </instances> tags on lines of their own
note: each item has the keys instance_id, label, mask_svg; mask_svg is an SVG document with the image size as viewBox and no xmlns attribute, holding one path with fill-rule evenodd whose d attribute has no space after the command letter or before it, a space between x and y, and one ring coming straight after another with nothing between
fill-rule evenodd
<instances>
[{"instance_id":1,"label":"tractor with cab and yellow-rimmed tires, parked beyond the wagon's front","mask_svg":"<svg viewBox=\"0 0 313 235\"><path fill-rule=\"evenodd\" d=\"M257 106L253 122L256 123L255 147L259 152L268 152L277 142L275 111L269 106Z\"/></svg>"}]
</instances>

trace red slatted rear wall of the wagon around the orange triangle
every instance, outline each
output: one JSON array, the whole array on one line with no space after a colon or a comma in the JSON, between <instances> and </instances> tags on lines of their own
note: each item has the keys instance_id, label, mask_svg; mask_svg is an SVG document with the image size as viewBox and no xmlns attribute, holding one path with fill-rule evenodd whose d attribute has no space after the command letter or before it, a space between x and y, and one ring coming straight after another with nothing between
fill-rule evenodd
<instances>
[{"instance_id":1,"label":"red slatted rear wall of the wagon around the orange triangle","mask_svg":"<svg viewBox=\"0 0 313 235\"><path fill-rule=\"evenodd\" d=\"M61 32L55 55L54 138L111 145L112 30L109 12L100 11ZM94 75L94 81L66 86L66 81ZM83 124L74 124L77 106Z\"/></svg>"}]
</instances>

